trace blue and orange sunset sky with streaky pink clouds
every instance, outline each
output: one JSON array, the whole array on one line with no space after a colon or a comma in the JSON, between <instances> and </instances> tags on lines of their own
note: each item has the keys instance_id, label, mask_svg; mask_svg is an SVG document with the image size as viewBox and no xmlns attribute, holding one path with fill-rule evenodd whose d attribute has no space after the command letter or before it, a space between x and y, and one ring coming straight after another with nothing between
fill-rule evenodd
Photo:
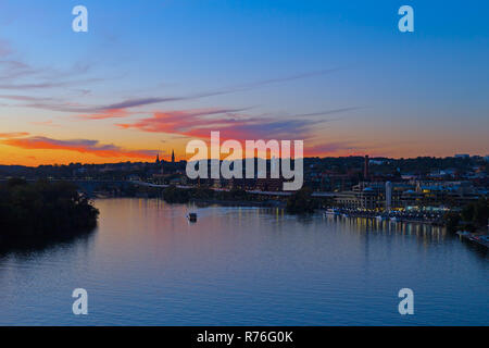
<instances>
[{"instance_id":1,"label":"blue and orange sunset sky with streaky pink clouds","mask_svg":"<svg viewBox=\"0 0 489 348\"><path fill-rule=\"evenodd\" d=\"M88 33L72 30L78 4ZM398 30L403 4L414 33ZM186 159L211 130L302 139L305 156L486 156L488 14L488 1L2 0L0 164Z\"/></svg>"}]
</instances>

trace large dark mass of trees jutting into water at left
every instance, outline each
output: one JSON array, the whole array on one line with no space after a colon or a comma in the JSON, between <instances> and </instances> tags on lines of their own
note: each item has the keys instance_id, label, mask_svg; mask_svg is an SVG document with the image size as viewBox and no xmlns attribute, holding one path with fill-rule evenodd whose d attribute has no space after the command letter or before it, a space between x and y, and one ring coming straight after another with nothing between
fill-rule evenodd
<instances>
[{"instance_id":1,"label":"large dark mass of trees jutting into water at left","mask_svg":"<svg viewBox=\"0 0 489 348\"><path fill-rule=\"evenodd\" d=\"M0 240L57 237L90 231L99 211L66 182L0 185Z\"/></svg>"}]
</instances>

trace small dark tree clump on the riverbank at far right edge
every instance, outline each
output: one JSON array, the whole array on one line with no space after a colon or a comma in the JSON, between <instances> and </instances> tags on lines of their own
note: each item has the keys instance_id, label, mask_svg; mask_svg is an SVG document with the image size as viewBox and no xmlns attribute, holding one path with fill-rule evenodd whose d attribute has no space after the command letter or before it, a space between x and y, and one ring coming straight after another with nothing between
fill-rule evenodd
<instances>
[{"instance_id":1,"label":"small dark tree clump on the riverbank at far right edge","mask_svg":"<svg viewBox=\"0 0 489 348\"><path fill-rule=\"evenodd\" d=\"M450 231L463 229L469 232L487 228L488 219L488 198L480 198L477 202L464 207L461 212L450 212L444 216L447 227Z\"/></svg>"}]
</instances>

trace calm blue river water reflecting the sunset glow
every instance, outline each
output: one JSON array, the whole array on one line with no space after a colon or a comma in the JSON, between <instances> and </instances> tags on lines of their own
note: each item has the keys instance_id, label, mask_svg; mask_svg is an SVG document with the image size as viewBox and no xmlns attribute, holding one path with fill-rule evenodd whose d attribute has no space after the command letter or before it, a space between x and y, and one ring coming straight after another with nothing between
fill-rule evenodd
<instances>
[{"instance_id":1,"label":"calm blue river water reflecting the sunset glow","mask_svg":"<svg viewBox=\"0 0 489 348\"><path fill-rule=\"evenodd\" d=\"M147 199L96 204L89 236L0 253L0 324L489 324L489 257L441 228ZM85 316L72 313L78 287ZM414 290L414 315L398 312L403 287Z\"/></svg>"}]
</instances>

